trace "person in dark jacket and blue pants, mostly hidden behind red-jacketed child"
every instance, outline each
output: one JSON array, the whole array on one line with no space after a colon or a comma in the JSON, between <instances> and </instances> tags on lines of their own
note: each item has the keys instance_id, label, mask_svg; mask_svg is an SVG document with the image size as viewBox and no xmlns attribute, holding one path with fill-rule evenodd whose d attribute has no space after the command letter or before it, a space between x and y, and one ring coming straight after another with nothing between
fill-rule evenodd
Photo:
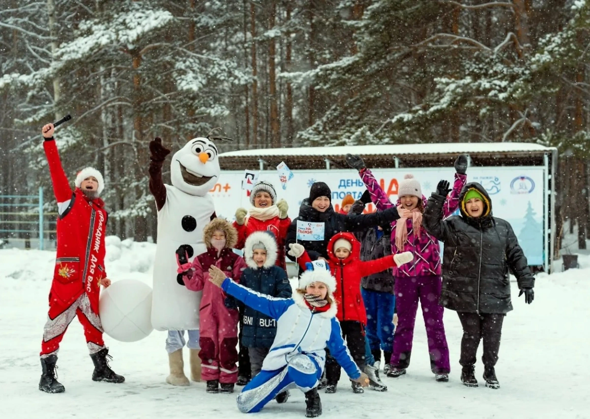
<instances>
[{"instance_id":1,"label":"person in dark jacket and blue pants, mostly hidden behind red-jacketed child","mask_svg":"<svg viewBox=\"0 0 590 419\"><path fill-rule=\"evenodd\" d=\"M371 202L369 191L352 204L350 212L362 214L365 205ZM391 224L369 227L363 232L355 233L360 242L360 260L375 260L391 256ZM394 345L394 311L395 311L395 278L392 269L383 270L373 275L363 276L360 292L365 302L367 313L366 337L369 341L371 354L375 358L377 371L381 365L381 350L385 358L383 372L387 374L391 364Z\"/></svg>"}]
</instances>

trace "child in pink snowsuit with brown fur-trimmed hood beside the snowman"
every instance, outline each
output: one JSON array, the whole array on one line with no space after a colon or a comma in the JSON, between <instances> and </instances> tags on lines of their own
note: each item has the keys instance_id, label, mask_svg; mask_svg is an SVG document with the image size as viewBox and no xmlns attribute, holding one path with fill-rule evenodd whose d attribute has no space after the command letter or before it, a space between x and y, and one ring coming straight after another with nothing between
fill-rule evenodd
<instances>
[{"instance_id":1,"label":"child in pink snowsuit with brown fur-trimmed hood beside the snowman","mask_svg":"<svg viewBox=\"0 0 590 419\"><path fill-rule=\"evenodd\" d=\"M238 379L238 311L225 306L225 293L209 281L209 268L215 265L240 282L246 263L232 251L238 233L227 220L212 220L203 230L203 240L207 252L192 263L179 263L178 272L186 288L203 291L199 309L201 379L207 381L207 392L218 392L221 383L221 392L229 393Z\"/></svg>"}]
</instances>

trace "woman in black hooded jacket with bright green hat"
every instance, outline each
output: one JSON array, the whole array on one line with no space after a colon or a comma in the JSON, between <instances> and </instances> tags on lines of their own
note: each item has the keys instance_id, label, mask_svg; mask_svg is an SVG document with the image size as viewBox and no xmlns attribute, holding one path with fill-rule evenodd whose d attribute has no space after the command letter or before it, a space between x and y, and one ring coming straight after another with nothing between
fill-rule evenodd
<instances>
[{"instance_id":1,"label":"woman in black hooded jacket with bright green hat","mask_svg":"<svg viewBox=\"0 0 590 419\"><path fill-rule=\"evenodd\" d=\"M424 212L428 232L444 242L440 303L457 311L463 326L461 381L477 387L474 365L483 339L483 378L486 387L500 388L494 366L498 360L502 322L512 310L512 270L526 303L534 298L535 278L510 223L493 217L491 199L476 182L467 183L460 194L460 216L442 221L442 205L448 182L441 180Z\"/></svg>"}]
</instances>

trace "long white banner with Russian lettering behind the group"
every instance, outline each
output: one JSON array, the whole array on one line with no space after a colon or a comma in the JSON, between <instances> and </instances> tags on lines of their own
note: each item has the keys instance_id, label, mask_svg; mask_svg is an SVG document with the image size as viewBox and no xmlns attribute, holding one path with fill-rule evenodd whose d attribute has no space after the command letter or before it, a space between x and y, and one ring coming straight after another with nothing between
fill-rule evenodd
<instances>
[{"instance_id":1,"label":"long white banner with Russian lettering behind the group","mask_svg":"<svg viewBox=\"0 0 590 419\"><path fill-rule=\"evenodd\" d=\"M499 166L470 167L467 169L467 182L478 182L490 194L492 212L495 217L506 220L512 225L519 244L525 251L529 265L543 265L546 214L544 203L544 167L533 166ZM412 169L375 169L372 170L381 189L395 203L398 199L399 182L404 175L412 173L420 182L422 194L429 197L441 179L453 185L455 171L453 167L412 168ZM365 192L365 184L360 180L356 170L295 170L289 181L289 193L280 193L281 181L276 170L261 171L258 180L273 184L277 190L277 199L289 203L289 217L299 215L301 201L309 196L309 188L314 182L326 182L332 190L332 205L337 211L346 194L360 199ZM222 171L219 183L211 190L218 216L233 220L235 210L240 206L243 171ZM252 180L255 182L255 179ZM247 204L246 209L250 206ZM368 204L366 212L375 211L375 206ZM458 214L458 211L457 211Z\"/></svg>"}]
</instances>

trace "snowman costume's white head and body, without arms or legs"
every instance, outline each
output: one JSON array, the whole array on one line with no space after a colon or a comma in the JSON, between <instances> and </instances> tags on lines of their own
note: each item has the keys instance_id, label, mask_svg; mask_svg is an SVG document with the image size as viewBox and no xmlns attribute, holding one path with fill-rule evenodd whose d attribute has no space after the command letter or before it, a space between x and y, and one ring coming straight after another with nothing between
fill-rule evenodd
<instances>
[{"instance_id":1,"label":"snowman costume's white head and body, without arms or legs","mask_svg":"<svg viewBox=\"0 0 590 419\"><path fill-rule=\"evenodd\" d=\"M199 329L202 292L189 291L176 281L176 249L190 245L193 254L189 255L189 262L207 250L203 229L215 213L208 192L221 172L217 156L215 144L202 137L188 141L172 156L172 186L164 185L166 201L158 211L152 294L152 326L156 330ZM184 217L189 218L190 223L183 224Z\"/></svg>"}]
</instances>

